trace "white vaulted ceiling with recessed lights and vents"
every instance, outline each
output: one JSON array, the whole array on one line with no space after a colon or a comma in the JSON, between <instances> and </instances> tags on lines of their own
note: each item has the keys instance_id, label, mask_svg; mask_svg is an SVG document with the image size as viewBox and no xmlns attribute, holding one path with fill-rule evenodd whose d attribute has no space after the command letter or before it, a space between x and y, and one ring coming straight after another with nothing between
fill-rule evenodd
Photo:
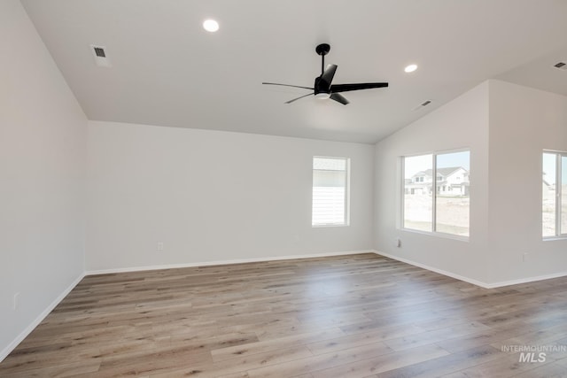
<instances>
[{"instance_id":1,"label":"white vaulted ceiling with recessed lights and vents","mask_svg":"<svg viewBox=\"0 0 567 378\"><path fill-rule=\"evenodd\" d=\"M375 143L478 83L567 95L565 0L22 0L89 120ZM203 30L214 18L221 29ZM329 42L334 83L308 96ZM96 66L103 45L112 68ZM409 63L415 73L404 73ZM431 105L414 111L418 104Z\"/></svg>"}]
</instances>

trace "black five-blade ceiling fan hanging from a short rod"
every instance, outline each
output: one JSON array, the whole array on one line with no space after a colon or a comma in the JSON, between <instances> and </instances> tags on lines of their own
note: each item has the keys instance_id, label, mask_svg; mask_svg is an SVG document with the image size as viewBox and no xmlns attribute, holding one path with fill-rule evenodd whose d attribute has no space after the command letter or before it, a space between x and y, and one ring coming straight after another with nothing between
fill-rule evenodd
<instances>
[{"instance_id":1,"label":"black five-blade ceiling fan hanging from a short rod","mask_svg":"<svg viewBox=\"0 0 567 378\"><path fill-rule=\"evenodd\" d=\"M315 78L314 88L301 87L299 85L289 85L289 84L279 84L276 82L262 82L262 84L267 85L281 85L283 87L293 87L313 90L313 93L309 93L305 96L299 96L293 98L290 101L286 101L285 104L291 104L294 101L299 100L299 98L315 95L317 98L330 98L335 100L340 104L348 104L348 100L339 94L339 92L348 92L351 90L361 90L361 89L373 89L373 88L384 88L388 86L387 82L360 82L353 84L332 84L333 77L337 71L336 65L329 65L325 69L325 55L329 54L330 45L328 43L321 43L315 48L317 54L321 55L321 76Z\"/></svg>"}]
</instances>

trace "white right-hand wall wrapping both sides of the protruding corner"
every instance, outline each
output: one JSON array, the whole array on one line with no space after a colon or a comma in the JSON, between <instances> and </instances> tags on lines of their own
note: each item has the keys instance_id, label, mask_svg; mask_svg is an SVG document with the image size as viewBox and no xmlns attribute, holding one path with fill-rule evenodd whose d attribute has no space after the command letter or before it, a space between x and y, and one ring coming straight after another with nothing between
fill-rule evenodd
<instances>
[{"instance_id":1,"label":"white right-hand wall wrapping both sides of the protruding corner","mask_svg":"<svg viewBox=\"0 0 567 378\"><path fill-rule=\"evenodd\" d=\"M470 240L400 229L400 156L464 147ZM567 240L541 239L544 149L567 150L567 97L504 81L486 81L377 143L375 248L485 286L567 274Z\"/></svg>"}]
</instances>

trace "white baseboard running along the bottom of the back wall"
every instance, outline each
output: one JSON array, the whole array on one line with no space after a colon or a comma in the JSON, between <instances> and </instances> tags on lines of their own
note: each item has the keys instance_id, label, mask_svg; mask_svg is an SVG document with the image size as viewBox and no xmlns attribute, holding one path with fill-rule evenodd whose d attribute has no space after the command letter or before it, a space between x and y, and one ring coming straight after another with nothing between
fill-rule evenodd
<instances>
[{"instance_id":1,"label":"white baseboard running along the bottom of the back wall","mask_svg":"<svg viewBox=\"0 0 567 378\"><path fill-rule=\"evenodd\" d=\"M85 275L144 272L146 270L175 269L175 268L181 268L181 267L218 266L218 265L257 263L257 262L262 262L262 261L292 260L292 259L297 259L297 258L326 258L326 257L330 257L330 256L358 255L358 254L361 254L361 253L375 253L375 251L373 251L373 250L342 251L342 252L312 253L312 254L306 254L306 255L272 256L272 257L268 257L268 258L237 258L237 259L231 259L231 260L204 261L204 262L197 262L197 263L169 264L169 265L159 265L159 266L117 267L117 268L112 268L112 269L89 270L85 273Z\"/></svg>"}]
</instances>

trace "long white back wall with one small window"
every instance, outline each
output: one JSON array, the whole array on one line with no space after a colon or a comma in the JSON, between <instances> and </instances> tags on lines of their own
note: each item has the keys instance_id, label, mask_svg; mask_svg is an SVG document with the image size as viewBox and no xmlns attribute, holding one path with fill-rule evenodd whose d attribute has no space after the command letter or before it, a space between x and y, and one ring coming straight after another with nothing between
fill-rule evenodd
<instances>
[{"instance_id":1,"label":"long white back wall with one small window","mask_svg":"<svg viewBox=\"0 0 567 378\"><path fill-rule=\"evenodd\" d=\"M368 251L373 153L367 144L90 121L87 270ZM350 227L311 227L314 155L351 158Z\"/></svg>"}]
</instances>

